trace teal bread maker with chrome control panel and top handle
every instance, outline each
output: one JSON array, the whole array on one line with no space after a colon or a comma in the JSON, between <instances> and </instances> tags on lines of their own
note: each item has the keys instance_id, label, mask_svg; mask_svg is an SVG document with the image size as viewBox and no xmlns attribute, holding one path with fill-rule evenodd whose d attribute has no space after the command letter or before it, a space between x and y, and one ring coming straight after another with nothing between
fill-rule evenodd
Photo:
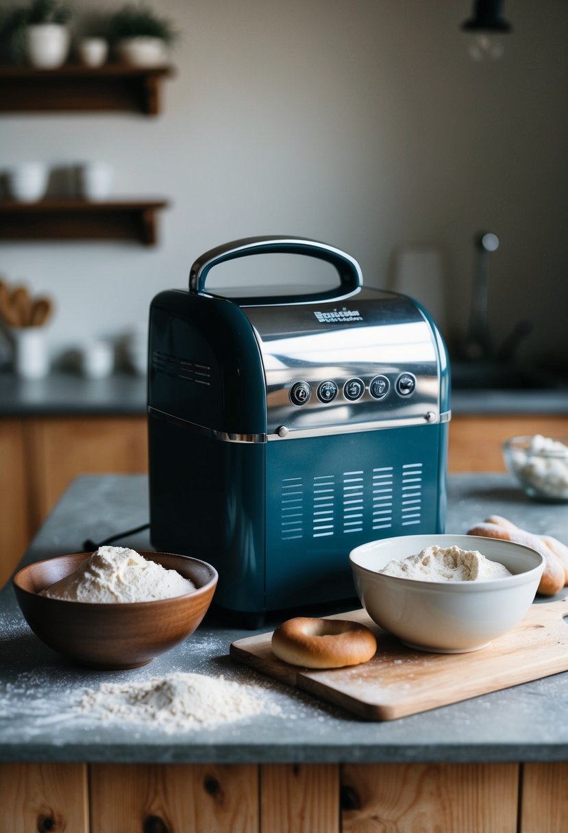
<instances>
[{"instance_id":1,"label":"teal bread maker with chrome control panel and top handle","mask_svg":"<svg viewBox=\"0 0 568 833\"><path fill-rule=\"evenodd\" d=\"M338 285L207 289L217 264L272 252L331 263ZM426 310L363 287L345 252L296 237L212 249L150 307L152 546L209 561L217 605L253 626L351 599L353 547L444 531L449 387Z\"/></svg>"}]
</instances>

